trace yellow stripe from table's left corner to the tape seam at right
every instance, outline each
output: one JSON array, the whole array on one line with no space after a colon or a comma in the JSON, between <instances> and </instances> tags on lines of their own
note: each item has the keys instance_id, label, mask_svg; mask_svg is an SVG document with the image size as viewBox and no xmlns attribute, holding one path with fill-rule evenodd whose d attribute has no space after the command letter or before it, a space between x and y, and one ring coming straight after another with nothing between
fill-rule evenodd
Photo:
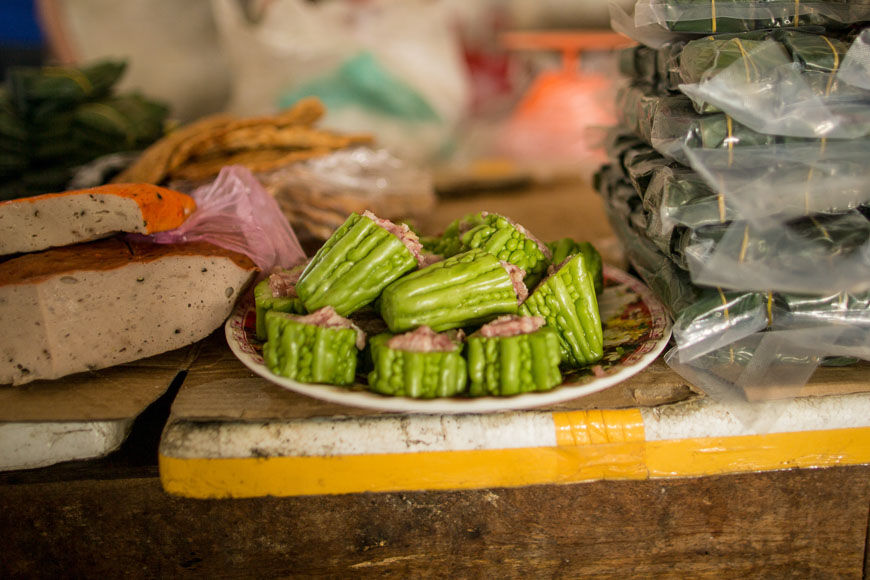
<instances>
[{"instance_id":1,"label":"yellow stripe from table's left corner to the tape seam at right","mask_svg":"<svg viewBox=\"0 0 870 580\"><path fill-rule=\"evenodd\" d=\"M187 497L262 497L477 489L645 479L643 442L329 457L177 459L160 479Z\"/></svg>"}]
</instances>

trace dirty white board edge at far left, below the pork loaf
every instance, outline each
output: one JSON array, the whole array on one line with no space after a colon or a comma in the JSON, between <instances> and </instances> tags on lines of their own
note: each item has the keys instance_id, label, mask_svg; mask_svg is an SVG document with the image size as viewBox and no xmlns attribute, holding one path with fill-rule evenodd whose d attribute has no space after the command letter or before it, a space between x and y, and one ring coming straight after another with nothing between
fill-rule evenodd
<instances>
[{"instance_id":1,"label":"dirty white board edge at far left, below the pork loaf","mask_svg":"<svg viewBox=\"0 0 870 580\"><path fill-rule=\"evenodd\" d=\"M132 427L132 419L0 423L0 471L102 457L120 447Z\"/></svg>"}]
</instances>

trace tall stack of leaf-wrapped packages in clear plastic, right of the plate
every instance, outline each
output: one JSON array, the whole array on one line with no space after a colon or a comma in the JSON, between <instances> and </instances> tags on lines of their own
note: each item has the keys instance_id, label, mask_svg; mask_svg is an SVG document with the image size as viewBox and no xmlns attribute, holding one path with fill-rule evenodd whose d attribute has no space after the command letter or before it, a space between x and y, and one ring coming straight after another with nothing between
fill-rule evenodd
<instances>
[{"instance_id":1,"label":"tall stack of leaf-wrapped packages in clear plastic, right of the plate","mask_svg":"<svg viewBox=\"0 0 870 580\"><path fill-rule=\"evenodd\" d=\"M870 360L870 2L639 0L625 22L596 187L672 314L668 363L747 401Z\"/></svg>"}]
</instances>

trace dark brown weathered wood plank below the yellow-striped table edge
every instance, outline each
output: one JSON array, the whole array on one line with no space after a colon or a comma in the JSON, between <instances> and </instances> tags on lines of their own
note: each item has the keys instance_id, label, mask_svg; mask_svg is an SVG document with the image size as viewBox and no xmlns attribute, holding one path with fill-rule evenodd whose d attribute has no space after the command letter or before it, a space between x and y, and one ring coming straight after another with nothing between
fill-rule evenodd
<instances>
[{"instance_id":1,"label":"dark brown weathered wood plank below the yellow-striped table edge","mask_svg":"<svg viewBox=\"0 0 870 580\"><path fill-rule=\"evenodd\" d=\"M265 498L0 485L3 577L861 578L870 466Z\"/></svg>"}]
</instances>

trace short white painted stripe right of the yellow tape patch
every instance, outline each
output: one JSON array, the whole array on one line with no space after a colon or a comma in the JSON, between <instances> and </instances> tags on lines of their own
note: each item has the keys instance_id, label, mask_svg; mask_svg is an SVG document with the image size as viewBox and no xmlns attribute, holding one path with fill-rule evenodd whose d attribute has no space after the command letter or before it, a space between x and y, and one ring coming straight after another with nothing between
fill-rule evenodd
<instances>
[{"instance_id":1,"label":"short white painted stripe right of the yellow tape patch","mask_svg":"<svg viewBox=\"0 0 870 580\"><path fill-rule=\"evenodd\" d=\"M641 409L647 441L870 427L870 394L729 405L698 399Z\"/></svg>"}]
</instances>

